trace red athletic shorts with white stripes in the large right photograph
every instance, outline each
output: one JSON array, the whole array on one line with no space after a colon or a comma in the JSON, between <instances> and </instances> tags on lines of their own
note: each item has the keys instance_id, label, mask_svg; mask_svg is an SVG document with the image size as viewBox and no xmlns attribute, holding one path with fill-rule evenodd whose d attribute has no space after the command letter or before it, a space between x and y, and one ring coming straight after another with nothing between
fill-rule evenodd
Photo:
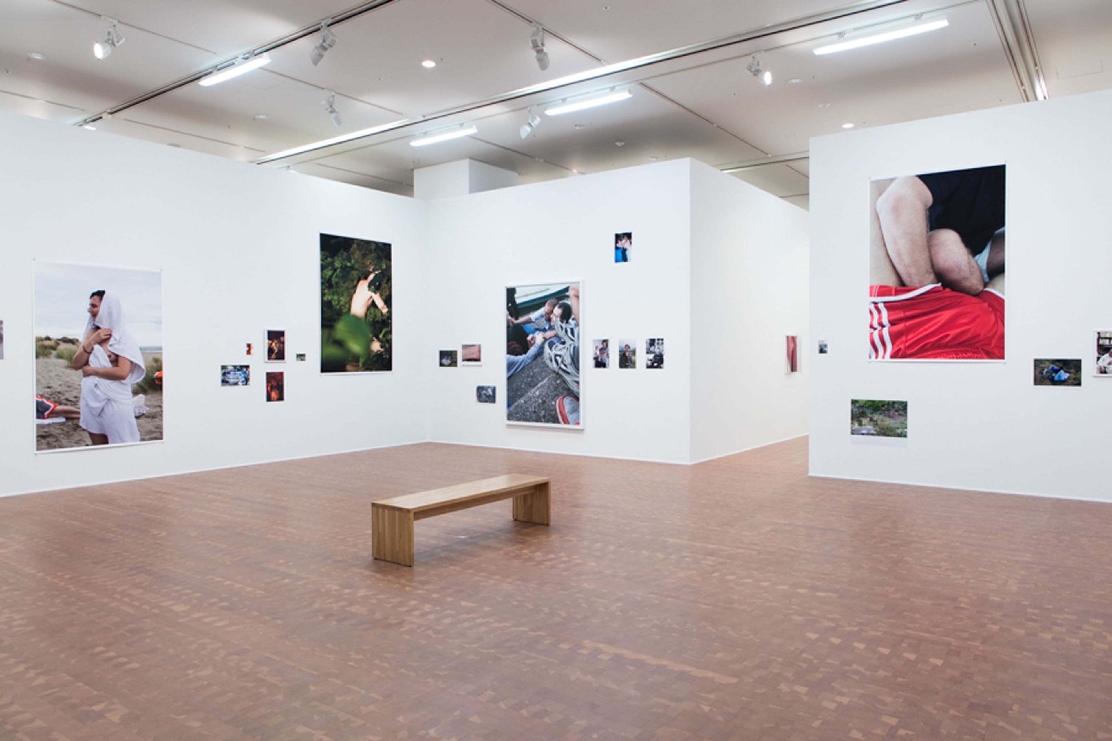
<instances>
[{"instance_id":1,"label":"red athletic shorts with white stripes in the large right photograph","mask_svg":"<svg viewBox=\"0 0 1112 741\"><path fill-rule=\"evenodd\" d=\"M1003 360L1004 297L969 296L935 283L868 287L868 357L874 360Z\"/></svg>"}]
</instances>

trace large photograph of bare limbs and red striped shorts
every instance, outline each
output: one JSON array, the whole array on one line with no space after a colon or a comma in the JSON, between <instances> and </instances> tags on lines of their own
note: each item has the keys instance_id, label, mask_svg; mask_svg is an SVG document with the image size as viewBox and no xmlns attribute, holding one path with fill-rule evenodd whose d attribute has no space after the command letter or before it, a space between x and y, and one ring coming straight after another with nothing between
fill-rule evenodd
<instances>
[{"instance_id":1,"label":"large photograph of bare limbs and red striped shorts","mask_svg":"<svg viewBox=\"0 0 1112 741\"><path fill-rule=\"evenodd\" d=\"M1004 359L1004 174L872 182L871 360Z\"/></svg>"}]
</instances>

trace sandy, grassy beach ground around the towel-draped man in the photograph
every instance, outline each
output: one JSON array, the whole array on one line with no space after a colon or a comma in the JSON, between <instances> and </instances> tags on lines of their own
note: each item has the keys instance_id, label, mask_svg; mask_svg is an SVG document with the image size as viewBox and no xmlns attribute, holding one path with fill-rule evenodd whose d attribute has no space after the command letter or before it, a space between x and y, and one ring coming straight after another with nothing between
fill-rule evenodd
<instances>
[{"instance_id":1,"label":"sandy, grassy beach ground around the towel-draped man in the photograph","mask_svg":"<svg viewBox=\"0 0 1112 741\"><path fill-rule=\"evenodd\" d=\"M161 360L161 352L142 353L143 361L150 367L150 362L158 358ZM34 361L36 393L49 399L59 405L80 407L81 405L81 372L70 367L68 360L60 358L38 358ZM162 392L145 392L147 413L136 419L139 425L139 439L142 442L148 440L162 439ZM28 412L32 411L31 404L27 405ZM54 424L36 425L36 450L63 450L68 448L88 448L89 433L81 429L78 420L66 420Z\"/></svg>"}]
</instances>

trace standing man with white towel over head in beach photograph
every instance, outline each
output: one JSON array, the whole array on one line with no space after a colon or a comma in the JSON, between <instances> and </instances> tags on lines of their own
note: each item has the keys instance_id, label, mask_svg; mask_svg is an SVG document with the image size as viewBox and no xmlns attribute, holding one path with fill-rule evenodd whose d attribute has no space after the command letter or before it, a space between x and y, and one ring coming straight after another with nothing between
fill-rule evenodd
<instances>
[{"instance_id":1,"label":"standing man with white towel over head in beach photograph","mask_svg":"<svg viewBox=\"0 0 1112 741\"><path fill-rule=\"evenodd\" d=\"M93 291L89 297L89 321L73 370L85 377L80 424L92 444L139 442L131 384L142 380L147 367L115 293Z\"/></svg>"}]
</instances>

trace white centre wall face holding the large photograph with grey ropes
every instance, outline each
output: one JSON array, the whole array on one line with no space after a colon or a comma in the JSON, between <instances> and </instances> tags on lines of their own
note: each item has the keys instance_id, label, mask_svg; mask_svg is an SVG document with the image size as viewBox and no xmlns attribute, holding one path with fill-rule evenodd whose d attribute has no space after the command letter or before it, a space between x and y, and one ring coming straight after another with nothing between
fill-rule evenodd
<instances>
[{"instance_id":1,"label":"white centre wall face holding the large photograph with grey ropes","mask_svg":"<svg viewBox=\"0 0 1112 741\"><path fill-rule=\"evenodd\" d=\"M686 463L691 444L691 161L504 188L429 202L425 372L430 435L441 442ZM629 262L614 236L633 232ZM506 287L582 281L583 429L506 424ZM663 370L645 339L664 338ZM596 369L592 341L609 339ZM619 339L637 368L617 368ZM481 368L436 368L436 350L481 342ZM543 362L543 361L540 361ZM476 384L497 385L477 404Z\"/></svg>"}]
</instances>

